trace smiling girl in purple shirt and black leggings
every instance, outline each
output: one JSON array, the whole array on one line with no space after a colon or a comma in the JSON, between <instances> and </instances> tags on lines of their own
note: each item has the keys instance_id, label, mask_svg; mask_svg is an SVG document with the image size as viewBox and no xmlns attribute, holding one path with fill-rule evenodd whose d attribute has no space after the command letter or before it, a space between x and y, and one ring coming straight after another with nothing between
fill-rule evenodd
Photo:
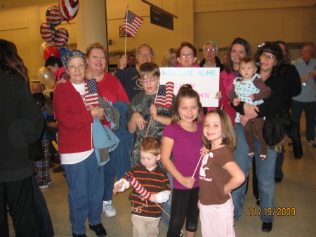
<instances>
[{"instance_id":1,"label":"smiling girl in purple shirt and black leggings","mask_svg":"<svg viewBox=\"0 0 316 237\"><path fill-rule=\"evenodd\" d=\"M197 122L195 122L197 121ZM173 175L171 218L167 237L180 236L183 223L187 236L197 231L199 209L199 175L195 173L202 148L202 105L199 95L189 84L183 85L176 96L171 124L164 128L162 139L162 164ZM173 153L173 162L170 160Z\"/></svg>"}]
</instances>

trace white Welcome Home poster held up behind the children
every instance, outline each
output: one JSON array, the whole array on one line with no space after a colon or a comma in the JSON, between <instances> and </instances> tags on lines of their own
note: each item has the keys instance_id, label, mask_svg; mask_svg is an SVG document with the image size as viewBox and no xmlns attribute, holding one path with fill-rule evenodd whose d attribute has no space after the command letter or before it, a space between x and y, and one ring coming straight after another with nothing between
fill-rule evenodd
<instances>
[{"instance_id":1,"label":"white Welcome Home poster held up behind the children","mask_svg":"<svg viewBox=\"0 0 316 237\"><path fill-rule=\"evenodd\" d=\"M218 107L219 75L219 68L160 68L160 84L173 82L175 95L183 84L191 84L203 107Z\"/></svg>"}]
</instances>

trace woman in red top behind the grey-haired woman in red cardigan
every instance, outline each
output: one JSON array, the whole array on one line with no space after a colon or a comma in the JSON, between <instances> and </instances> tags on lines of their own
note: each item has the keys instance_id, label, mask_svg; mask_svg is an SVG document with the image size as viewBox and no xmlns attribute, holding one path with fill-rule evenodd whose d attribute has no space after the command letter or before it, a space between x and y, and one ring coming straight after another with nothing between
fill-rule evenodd
<instances>
[{"instance_id":1,"label":"woman in red top behind the grey-haired woman in red cardigan","mask_svg":"<svg viewBox=\"0 0 316 237\"><path fill-rule=\"evenodd\" d=\"M103 97L105 101L116 103L117 101L125 101L129 103L129 97L124 87L117 77L105 72L107 65L107 51L100 43L90 44L86 49L86 78L96 78L98 95ZM124 126L124 125L123 125ZM119 143L119 146L121 143ZM121 147L117 147L121 149ZM112 157L112 155L111 155ZM116 175L116 164L111 159L105 165L105 193L103 197L103 212L107 217L114 217L117 212L112 205L113 182ZM127 170L126 170L127 171ZM121 177L117 177L120 179Z\"/></svg>"}]
</instances>

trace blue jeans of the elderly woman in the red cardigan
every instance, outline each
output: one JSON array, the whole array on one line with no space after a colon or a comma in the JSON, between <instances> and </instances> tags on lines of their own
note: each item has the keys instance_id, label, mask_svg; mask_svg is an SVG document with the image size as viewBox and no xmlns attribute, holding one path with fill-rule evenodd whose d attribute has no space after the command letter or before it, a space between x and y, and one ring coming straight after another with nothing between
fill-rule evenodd
<instances>
[{"instance_id":1,"label":"blue jeans of the elderly woman in the red cardigan","mask_svg":"<svg viewBox=\"0 0 316 237\"><path fill-rule=\"evenodd\" d=\"M96 153L79 163L62 165L69 188L69 209L72 233L84 234L84 222L92 226L101 223L104 192L104 166L98 167Z\"/></svg>"}]
</instances>

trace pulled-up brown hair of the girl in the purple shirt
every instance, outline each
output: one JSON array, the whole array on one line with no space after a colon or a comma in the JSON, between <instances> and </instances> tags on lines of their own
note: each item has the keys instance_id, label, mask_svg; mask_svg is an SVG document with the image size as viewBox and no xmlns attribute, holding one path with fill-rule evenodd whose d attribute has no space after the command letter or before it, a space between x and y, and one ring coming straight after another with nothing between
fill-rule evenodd
<instances>
[{"instance_id":1,"label":"pulled-up brown hair of the girl in the purple shirt","mask_svg":"<svg viewBox=\"0 0 316 237\"><path fill-rule=\"evenodd\" d=\"M199 94L197 94L197 91L192 89L192 86L190 84L182 85L178 91L178 94L176 96L176 101L174 103L173 112L172 112L171 124L174 124L180 120L179 106L183 98L195 98L195 100L197 100L197 105L199 106L199 113L197 114L197 122L200 124L202 122L202 113L203 113L202 104L199 101Z\"/></svg>"}]
</instances>

